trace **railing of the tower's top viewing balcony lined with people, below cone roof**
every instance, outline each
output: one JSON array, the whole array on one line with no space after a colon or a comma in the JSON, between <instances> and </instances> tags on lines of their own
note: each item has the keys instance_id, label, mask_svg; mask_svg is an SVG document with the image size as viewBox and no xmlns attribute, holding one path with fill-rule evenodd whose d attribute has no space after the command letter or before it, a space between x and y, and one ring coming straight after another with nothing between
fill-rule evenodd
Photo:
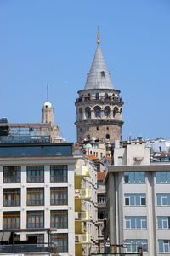
<instances>
[{"instance_id":1,"label":"railing of the tower's top viewing balcony lined with people, below cone roof","mask_svg":"<svg viewBox=\"0 0 170 256\"><path fill-rule=\"evenodd\" d=\"M119 96L80 96L77 98L76 103L81 103L81 102L98 102L98 101L103 101L103 102L122 102L122 97ZM122 102L123 103L123 102Z\"/></svg>"}]
</instances>

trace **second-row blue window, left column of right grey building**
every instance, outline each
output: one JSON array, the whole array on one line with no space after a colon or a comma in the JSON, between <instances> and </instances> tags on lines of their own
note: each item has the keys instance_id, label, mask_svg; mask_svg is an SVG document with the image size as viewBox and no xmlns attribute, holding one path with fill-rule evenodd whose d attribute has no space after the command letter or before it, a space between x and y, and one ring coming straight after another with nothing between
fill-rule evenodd
<instances>
[{"instance_id":1,"label":"second-row blue window, left column of right grey building","mask_svg":"<svg viewBox=\"0 0 170 256\"><path fill-rule=\"evenodd\" d=\"M145 194L125 194L125 206L145 206Z\"/></svg>"}]
</instances>

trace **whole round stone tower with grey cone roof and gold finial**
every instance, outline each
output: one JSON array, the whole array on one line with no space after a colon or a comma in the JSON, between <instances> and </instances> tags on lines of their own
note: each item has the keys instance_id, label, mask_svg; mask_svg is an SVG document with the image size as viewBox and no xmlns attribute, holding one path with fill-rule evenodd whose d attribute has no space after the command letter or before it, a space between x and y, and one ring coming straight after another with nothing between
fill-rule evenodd
<instances>
[{"instance_id":1,"label":"whole round stone tower with grey cone roof and gold finial","mask_svg":"<svg viewBox=\"0 0 170 256\"><path fill-rule=\"evenodd\" d=\"M79 90L77 101L77 143L99 140L114 143L122 140L121 91L114 89L111 73L99 46L94 55L84 90Z\"/></svg>"}]
</instances>

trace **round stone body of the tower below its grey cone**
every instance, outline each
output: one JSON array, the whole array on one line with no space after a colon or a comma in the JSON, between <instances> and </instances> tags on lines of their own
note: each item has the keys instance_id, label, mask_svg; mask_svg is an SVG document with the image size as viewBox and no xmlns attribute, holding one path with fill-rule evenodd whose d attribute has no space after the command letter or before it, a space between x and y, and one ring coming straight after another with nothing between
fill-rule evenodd
<instances>
[{"instance_id":1,"label":"round stone body of the tower below its grey cone","mask_svg":"<svg viewBox=\"0 0 170 256\"><path fill-rule=\"evenodd\" d=\"M122 140L122 99L119 90L82 90L77 98L77 142Z\"/></svg>"}]
</instances>

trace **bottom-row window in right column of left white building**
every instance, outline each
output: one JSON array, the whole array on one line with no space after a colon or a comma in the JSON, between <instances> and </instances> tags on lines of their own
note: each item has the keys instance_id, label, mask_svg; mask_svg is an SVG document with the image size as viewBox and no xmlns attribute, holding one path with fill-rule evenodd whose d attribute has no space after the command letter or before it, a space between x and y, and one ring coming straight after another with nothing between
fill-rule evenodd
<instances>
[{"instance_id":1,"label":"bottom-row window in right column of left white building","mask_svg":"<svg viewBox=\"0 0 170 256\"><path fill-rule=\"evenodd\" d=\"M51 242L59 250L59 253L68 252L68 234L57 233L51 234Z\"/></svg>"}]
</instances>

